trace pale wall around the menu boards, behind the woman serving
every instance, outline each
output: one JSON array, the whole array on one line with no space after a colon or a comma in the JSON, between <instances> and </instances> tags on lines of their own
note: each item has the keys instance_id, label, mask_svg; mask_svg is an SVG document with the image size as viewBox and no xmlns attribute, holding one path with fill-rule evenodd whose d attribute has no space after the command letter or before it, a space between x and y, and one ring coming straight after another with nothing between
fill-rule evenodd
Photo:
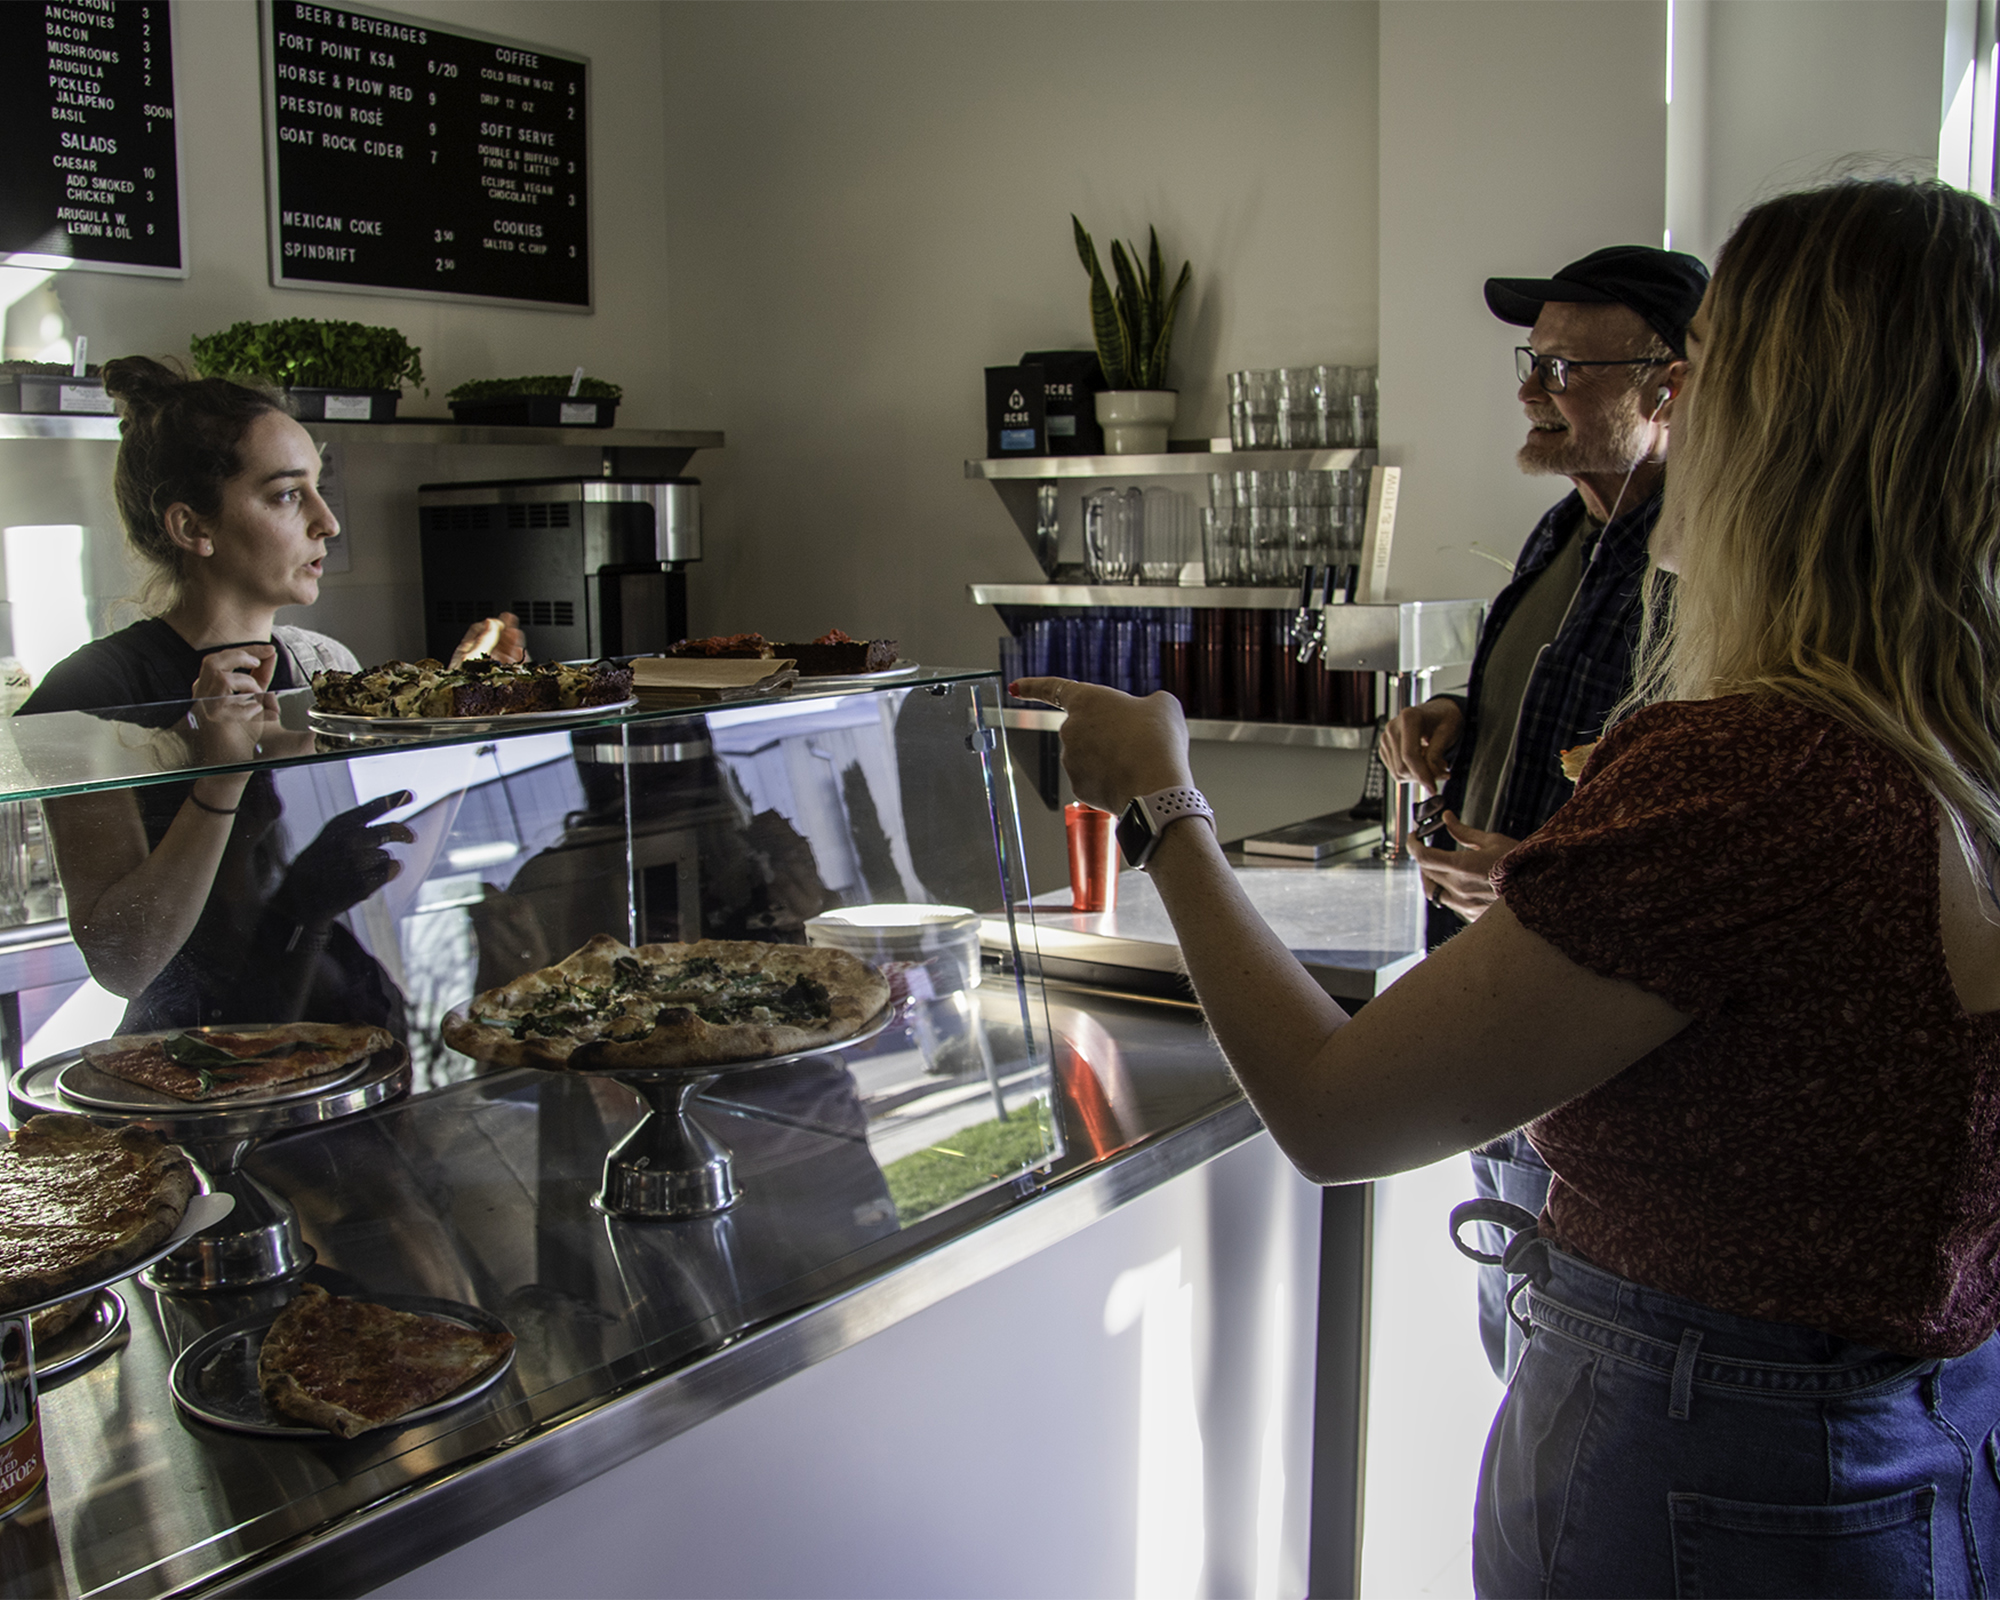
<instances>
[{"instance_id":1,"label":"pale wall around the menu boards, behind the woman serving","mask_svg":"<svg viewBox=\"0 0 2000 1600\"><path fill-rule=\"evenodd\" d=\"M180 158L188 276L60 276L60 298L98 360L186 354L188 338L238 320L326 316L380 322L424 352L430 398L404 394L406 414L446 414L444 390L464 378L568 372L576 364L626 388L620 422L676 426L668 414L666 154L660 108L660 10L652 4L560 0L410 0L396 10L448 26L508 34L590 58L596 312L518 310L396 296L272 288L264 244L264 134L258 98L258 18L248 0L174 8ZM688 426L696 426L694 424ZM96 554L96 596L128 594L118 520L108 498L110 444L0 444L0 506L8 522L72 522L82 506ZM364 660L416 654L416 508L412 490L438 478L596 470L594 452L516 456L474 450L352 448L348 534L352 570L328 574L316 626ZM26 516L22 506L34 504Z\"/></svg>"}]
</instances>

